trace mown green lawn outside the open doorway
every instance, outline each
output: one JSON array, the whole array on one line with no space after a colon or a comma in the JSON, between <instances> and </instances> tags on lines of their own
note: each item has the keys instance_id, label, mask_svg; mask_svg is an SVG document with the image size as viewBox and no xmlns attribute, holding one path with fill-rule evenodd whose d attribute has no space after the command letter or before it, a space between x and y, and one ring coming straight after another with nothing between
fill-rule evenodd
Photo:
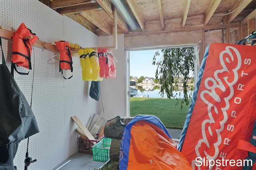
<instances>
[{"instance_id":1,"label":"mown green lawn outside the open doorway","mask_svg":"<svg viewBox=\"0 0 256 170\"><path fill-rule=\"evenodd\" d=\"M176 99L167 98L130 98L130 116L155 115L166 128L182 129L189 105L176 106Z\"/></svg>"}]
</instances>

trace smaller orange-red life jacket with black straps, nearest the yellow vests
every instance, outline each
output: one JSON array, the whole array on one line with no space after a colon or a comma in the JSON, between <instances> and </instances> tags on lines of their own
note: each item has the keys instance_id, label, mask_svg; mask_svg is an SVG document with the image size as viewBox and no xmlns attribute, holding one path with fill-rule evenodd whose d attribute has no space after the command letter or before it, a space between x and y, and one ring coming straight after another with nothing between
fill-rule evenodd
<instances>
[{"instance_id":1,"label":"smaller orange-red life jacket with black straps, nearest the yellow vests","mask_svg":"<svg viewBox=\"0 0 256 170\"><path fill-rule=\"evenodd\" d=\"M57 49L60 51L60 71L63 76L63 71L62 70L71 70L73 72L73 67L72 67L72 54L71 50L69 47L69 43L65 41L58 41L55 42ZM73 76L73 75L72 75ZM72 76L69 78L64 78L65 79L70 79Z\"/></svg>"}]
</instances>

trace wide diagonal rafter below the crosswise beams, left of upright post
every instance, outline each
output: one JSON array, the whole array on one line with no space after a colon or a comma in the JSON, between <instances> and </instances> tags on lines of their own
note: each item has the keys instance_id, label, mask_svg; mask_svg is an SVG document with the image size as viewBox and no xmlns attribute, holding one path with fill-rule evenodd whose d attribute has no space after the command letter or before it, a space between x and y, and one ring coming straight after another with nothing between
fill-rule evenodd
<instances>
[{"instance_id":1,"label":"wide diagonal rafter below the crosswise beams, left of upright post","mask_svg":"<svg viewBox=\"0 0 256 170\"><path fill-rule=\"evenodd\" d=\"M93 11L88 12L82 12L81 14L84 16L87 20L92 22L94 25L99 27L104 33L111 35L112 34L112 26L102 20L98 15L96 15Z\"/></svg>"}]
</instances>

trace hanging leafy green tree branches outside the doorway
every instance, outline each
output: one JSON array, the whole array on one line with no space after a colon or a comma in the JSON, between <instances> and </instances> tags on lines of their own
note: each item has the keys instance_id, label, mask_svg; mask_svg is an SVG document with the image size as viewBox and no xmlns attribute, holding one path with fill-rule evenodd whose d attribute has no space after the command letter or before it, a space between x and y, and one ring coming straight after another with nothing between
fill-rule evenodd
<instances>
[{"instance_id":1,"label":"hanging leafy green tree branches outside the doorway","mask_svg":"<svg viewBox=\"0 0 256 170\"><path fill-rule=\"evenodd\" d=\"M172 48L161 49L162 57L156 62L156 57L160 57L159 50L156 51L152 64L156 65L156 79L160 85L161 96L166 93L167 98L176 97L177 104L188 105L191 94L188 94L188 81L190 79L189 73L194 75L194 47L189 48ZM180 81L180 82L179 82ZM178 99L175 94L175 89L178 84L182 84L182 90L184 92L184 98Z\"/></svg>"}]
</instances>

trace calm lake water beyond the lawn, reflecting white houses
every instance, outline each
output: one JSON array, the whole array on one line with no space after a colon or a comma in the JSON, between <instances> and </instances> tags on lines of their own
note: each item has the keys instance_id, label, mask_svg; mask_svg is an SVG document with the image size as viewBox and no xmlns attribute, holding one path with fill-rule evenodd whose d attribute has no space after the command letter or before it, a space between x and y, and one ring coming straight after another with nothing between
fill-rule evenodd
<instances>
[{"instance_id":1,"label":"calm lake water beyond the lawn, reflecting white houses","mask_svg":"<svg viewBox=\"0 0 256 170\"><path fill-rule=\"evenodd\" d=\"M136 87L131 86L131 87L138 89L137 86ZM143 91L140 91L141 88L138 89L138 94L136 96L134 96L134 98L140 97L140 95L149 95L148 96L149 98L167 98L166 94L164 94L164 96L162 97L161 94L159 93L160 89L154 89L153 85L145 85L145 86L142 86L142 88L143 88ZM172 97L172 98L184 98L183 91L173 92L174 95L176 93L177 93L177 97ZM189 94L192 95L192 91L191 90L188 91L188 95Z\"/></svg>"}]
</instances>

